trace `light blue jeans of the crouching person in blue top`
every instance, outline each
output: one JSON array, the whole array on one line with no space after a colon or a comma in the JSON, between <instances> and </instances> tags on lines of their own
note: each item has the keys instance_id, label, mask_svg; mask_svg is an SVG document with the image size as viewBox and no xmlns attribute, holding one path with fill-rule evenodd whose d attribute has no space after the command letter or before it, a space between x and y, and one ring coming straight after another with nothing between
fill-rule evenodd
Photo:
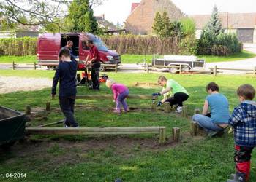
<instances>
[{"instance_id":1,"label":"light blue jeans of the crouching person in blue top","mask_svg":"<svg viewBox=\"0 0 256 182\"><path fill-rule=\"evenodd\" d=\"M200 127L203 127L206 132L211 132L211 131L222 131L224 130L223 128L217 126L217 124L214 124L211 122L211 118L208 116L205 116L203 114L194 114L192 116L193 121L198 122Z\"/></svg>"}]
</instances>

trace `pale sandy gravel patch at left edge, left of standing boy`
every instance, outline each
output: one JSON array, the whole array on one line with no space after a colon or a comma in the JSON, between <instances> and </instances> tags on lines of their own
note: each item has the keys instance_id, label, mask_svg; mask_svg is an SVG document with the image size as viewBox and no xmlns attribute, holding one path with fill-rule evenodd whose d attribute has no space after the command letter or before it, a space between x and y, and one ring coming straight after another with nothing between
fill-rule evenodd
<instances>
[{"instance_id":1,"label":"pale sandy gravel patch at left edge, left of standing boy","mask_svg":"<svg viewBox=\"0 0 256 182\"><path fill-rule=\"evenodd\" d=\"M22 78L17 76L0 76L0 94L17 91L42 90L51 87L50 79Z\"/></svg>"}]
</instances>

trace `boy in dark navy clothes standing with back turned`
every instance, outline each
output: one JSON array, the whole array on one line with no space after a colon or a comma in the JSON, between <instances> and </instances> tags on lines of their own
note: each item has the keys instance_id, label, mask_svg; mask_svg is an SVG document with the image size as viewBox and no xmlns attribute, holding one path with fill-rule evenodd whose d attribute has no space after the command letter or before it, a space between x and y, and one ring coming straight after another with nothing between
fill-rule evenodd
<instances>
[{"instance_id":1,"label":"boy in dark navy clothes standing with back turned","mask_svg":"<svg viewBox=\"0 0 256 182\"><path fill-rule=\"evenodd\" d=\"M56 95L56 87L59 82L59 105L63 112L66 127L78 127L74 118L74 105L76 96L76 73L78 63L70 58L68 49L61 49L59 52L61 63L56 69L53 77L52 98Z\"/></svg>"}]
</instances>

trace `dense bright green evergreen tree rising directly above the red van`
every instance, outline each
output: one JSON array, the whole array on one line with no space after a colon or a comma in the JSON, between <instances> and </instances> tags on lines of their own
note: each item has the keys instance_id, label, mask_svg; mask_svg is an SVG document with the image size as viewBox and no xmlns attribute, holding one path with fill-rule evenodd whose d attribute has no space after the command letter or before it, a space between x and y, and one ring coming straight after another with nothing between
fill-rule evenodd
<instances>
[{"instance_id":1,"label":"dense bright green evergreen tree rising directly above the red van","mask_svg":"<svg viewBox=\"0 0 256 182\"><path fill-rule=\"evenodd\" d=\"M98 33L98 23L89 0L72 1L69 6L67 23L70 31Z\"/></svg>"}]
</instances>

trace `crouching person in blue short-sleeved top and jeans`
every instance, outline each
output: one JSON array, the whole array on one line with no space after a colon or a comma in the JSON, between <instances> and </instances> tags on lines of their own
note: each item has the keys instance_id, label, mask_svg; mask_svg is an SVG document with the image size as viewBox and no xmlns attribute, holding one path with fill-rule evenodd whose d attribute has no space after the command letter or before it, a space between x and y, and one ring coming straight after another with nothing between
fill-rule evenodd
<instances>
[{"instance_id":1,"label":"crouching person in blue short-sleeved top and jeans","mask_svg":"<svg viewBox=\"0 0 256 182\"><path fill-rule=\"evenodd\" d=\"M219 86L211 82L206 86L206 97L202 114L195 114L192 119L203 127L208 136L214 136L218 132L223 132L227 127L229 119L229 109L227 98L219 93ZM211 113L209 114L209 108Z\"/></svg>"}]
</instances>

